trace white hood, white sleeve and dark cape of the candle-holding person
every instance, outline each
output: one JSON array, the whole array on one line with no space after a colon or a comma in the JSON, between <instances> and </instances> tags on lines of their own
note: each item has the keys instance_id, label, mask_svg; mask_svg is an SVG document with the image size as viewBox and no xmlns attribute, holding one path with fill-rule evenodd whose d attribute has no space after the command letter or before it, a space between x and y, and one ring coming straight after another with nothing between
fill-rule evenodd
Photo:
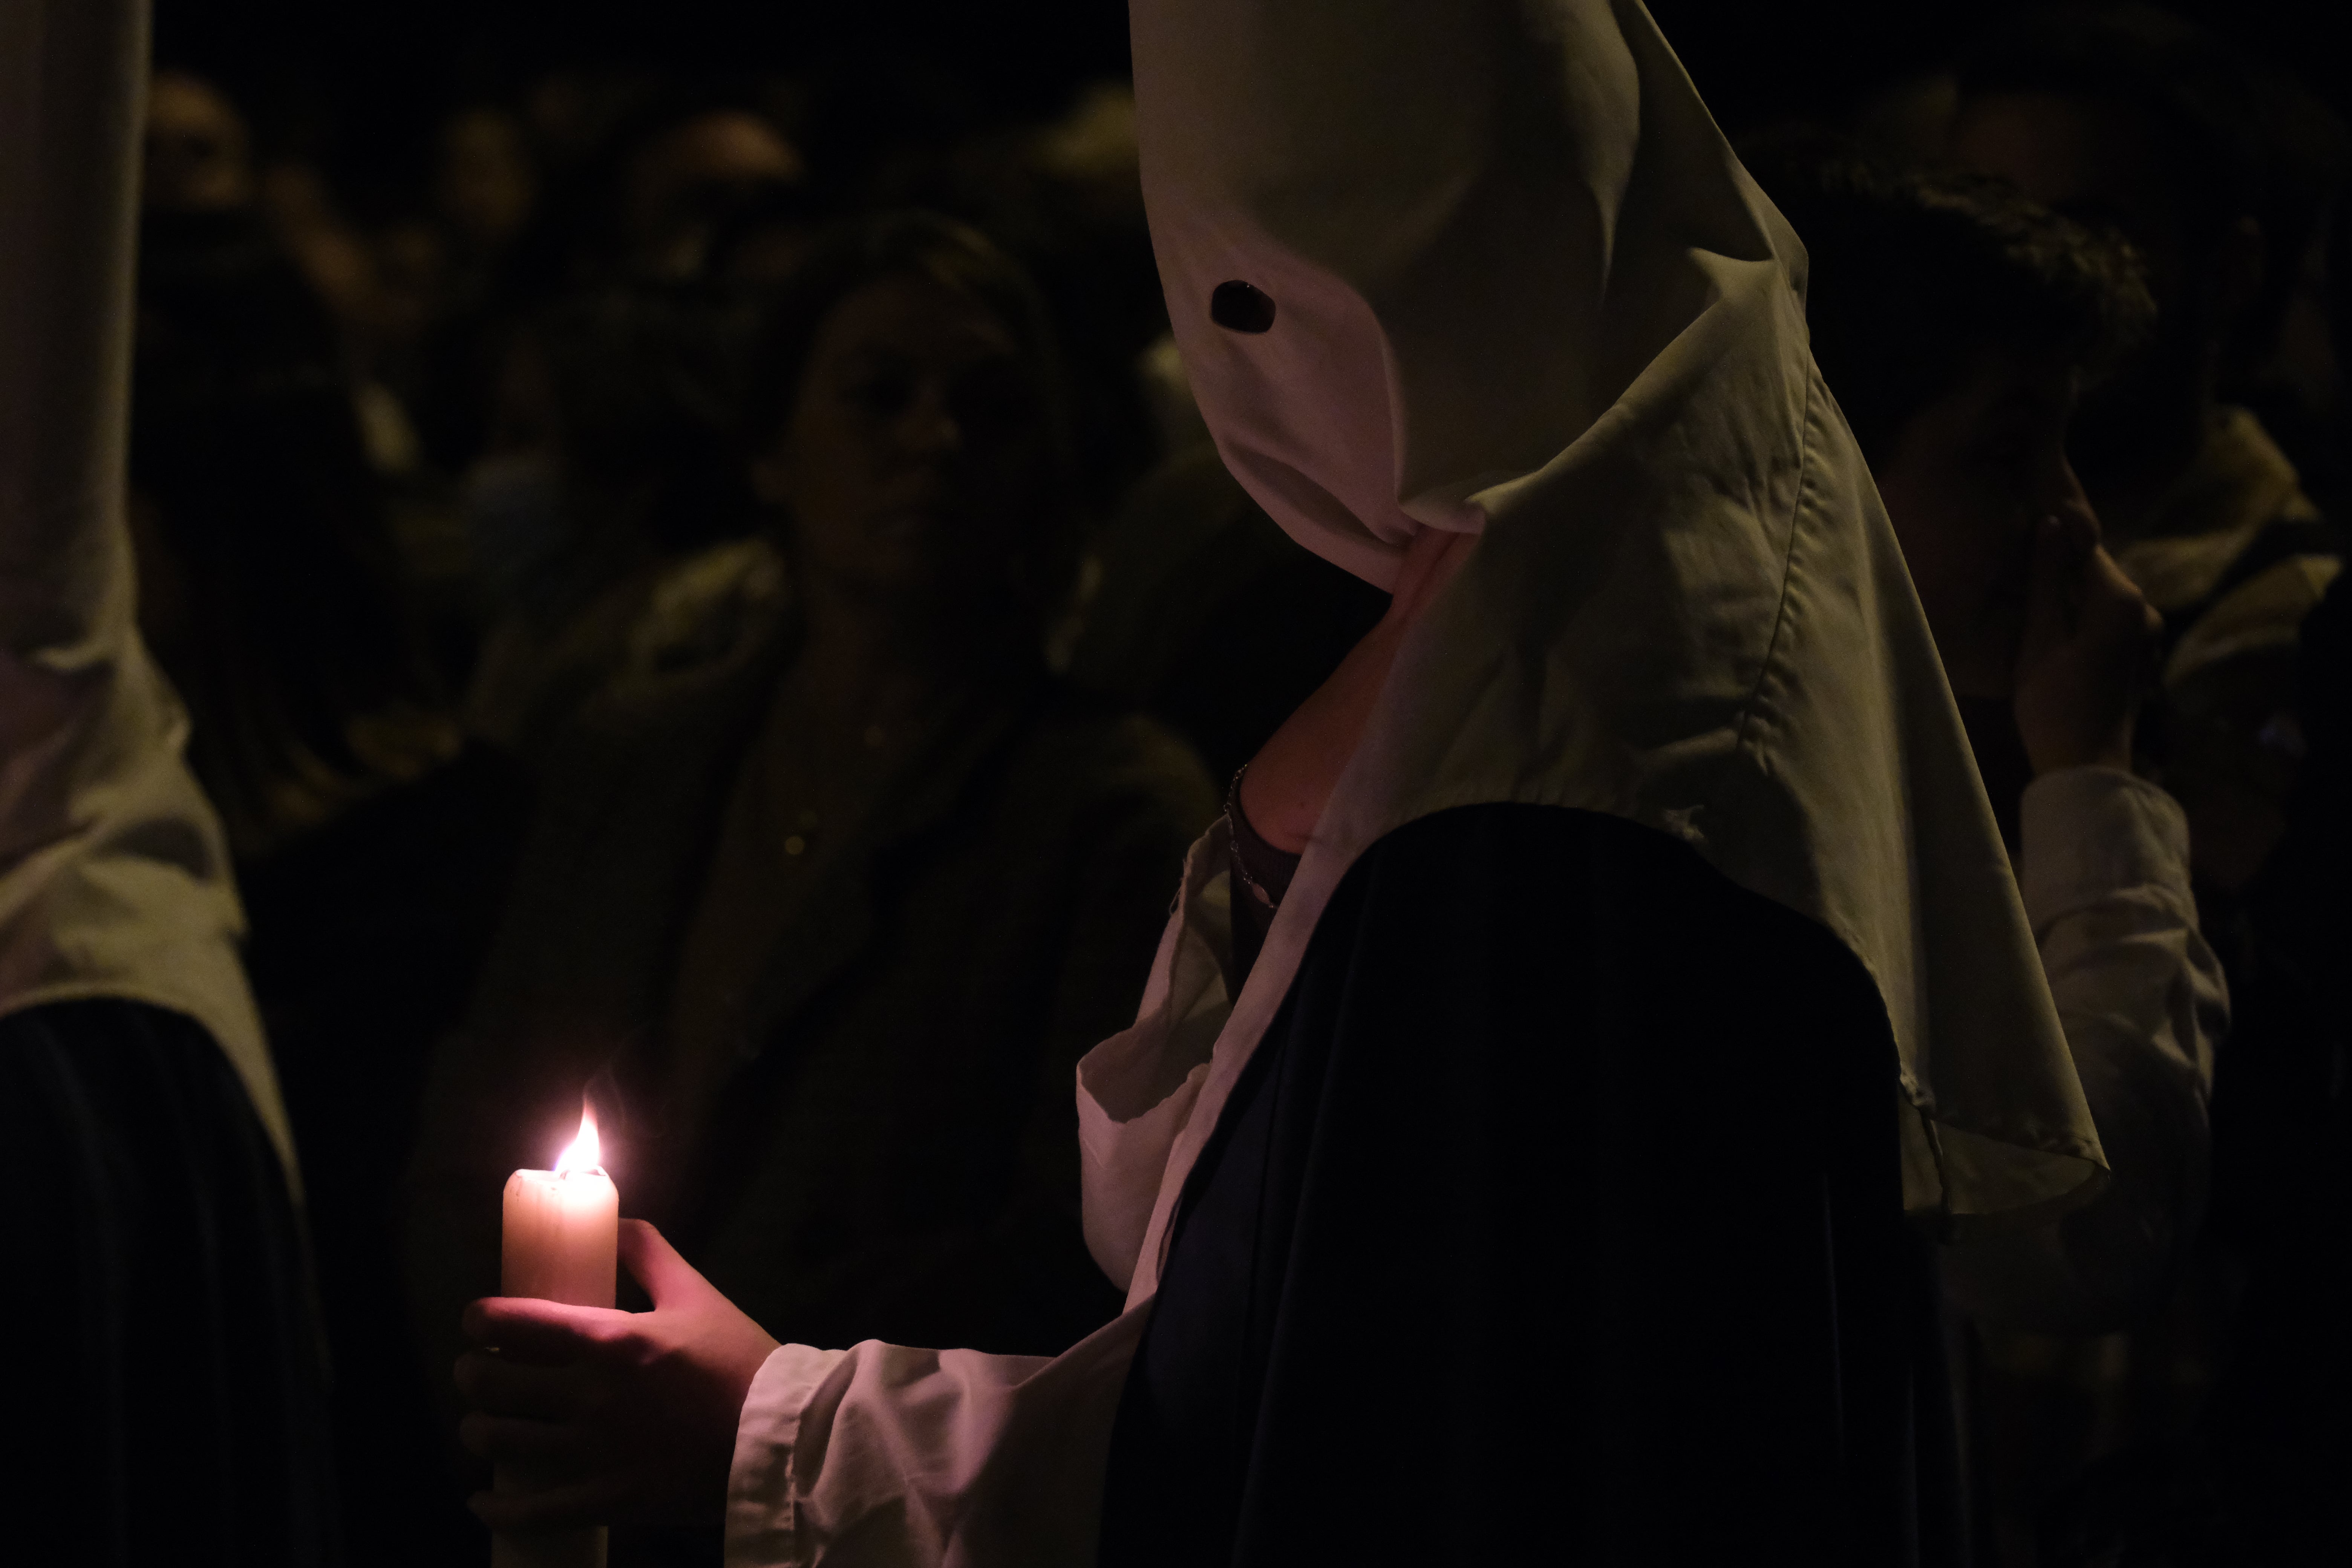
<instances>
[{"instance_id":1,"label":"white hood, white sleeve and dark cape of the candle-holding person","mask_svg":"<svg viewBox=\"0 0 2352 1568\"><path fill-rule=\"evenodd\" d=\"M1080 1065L1127 1314L783 1347L731 1561L1964 1561L1922 1237L2103 1157L1802 244L1632 0L1129 14L1225 463L1479 538L1240 994L1218 825Z\"/></svg>"}]
</instances>

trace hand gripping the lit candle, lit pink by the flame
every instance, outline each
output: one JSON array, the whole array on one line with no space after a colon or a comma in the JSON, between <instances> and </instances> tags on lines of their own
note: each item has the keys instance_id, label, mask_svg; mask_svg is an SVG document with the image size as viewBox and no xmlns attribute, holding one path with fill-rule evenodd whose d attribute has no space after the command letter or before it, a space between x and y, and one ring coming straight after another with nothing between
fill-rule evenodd
<instances>
[{"instance_id":1,"label":"hand gripping the lit candle, lit pink by the flame","mask_svg":"<svg viewBox=\"0 0 2352 1568\"><path fill-rule=\"evenodd\" d=\"M621 1220L621 1262L652 1312L466 1307L480 1349L456 1361L459 1436L501 1467L503 1490L470 1502L492 1530L724 1516L743 1394L776 1340L644 1220Z\"/></svg>"}]
</instances>

